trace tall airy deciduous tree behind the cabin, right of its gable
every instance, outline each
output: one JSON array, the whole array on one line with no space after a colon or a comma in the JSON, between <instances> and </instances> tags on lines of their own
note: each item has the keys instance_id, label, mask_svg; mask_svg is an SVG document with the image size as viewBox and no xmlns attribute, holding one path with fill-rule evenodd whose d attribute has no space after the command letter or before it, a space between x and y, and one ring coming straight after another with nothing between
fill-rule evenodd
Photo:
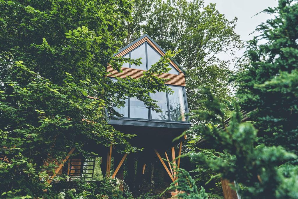
<instances>
[{"instance_id":1,"label":"tall airy deciduous tree behind the cabin, right of its gable","mask_svg":"<svg viewBox=\"0 0 298 199\"><path fill-rule=\"evenodd\" d=\"M217 58L221 52L233 54L240 48L240 36L234 32L237 18L229 21L202 0L157 0L144 25L147 33L165 50L181 49L175 60L186 71L189 108L202 109L206 98L201 87L208 86L221 101L229 97L226 86L229 62ZM195 119L192 122L199 122Z\"/></svg>"}]
</instances>

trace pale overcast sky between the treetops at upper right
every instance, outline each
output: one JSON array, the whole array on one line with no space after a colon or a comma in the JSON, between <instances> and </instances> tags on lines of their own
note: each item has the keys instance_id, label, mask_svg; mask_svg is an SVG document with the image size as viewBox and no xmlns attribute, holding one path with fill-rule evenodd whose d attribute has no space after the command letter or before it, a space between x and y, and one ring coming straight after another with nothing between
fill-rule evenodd
<instances>
[{"instance_id":1,"label":"pale overcast sky between the treetops at upper right","mask_svg":"<svg viewBox=\"0 0 298 199\"><path fill-rule=\"evenodd\" d=\"M238 21L235 32L240 35L241 40L247 41L256 35L249 34L255 30L257 25L273 17L265 13L260 13L257 16L254 15L267 7L276 7L278 2L276 0L205 0L205 5L209 3L216 3L217 10L224 14L229 20L237 17ZM244 49L238 51L235 56L241 57L243 52ZM232 57L227 53L221 53L218 55L218 58L229 60ZM234 64L230 66L230 69L233 68Z\"/></svg>"}]
</instances>

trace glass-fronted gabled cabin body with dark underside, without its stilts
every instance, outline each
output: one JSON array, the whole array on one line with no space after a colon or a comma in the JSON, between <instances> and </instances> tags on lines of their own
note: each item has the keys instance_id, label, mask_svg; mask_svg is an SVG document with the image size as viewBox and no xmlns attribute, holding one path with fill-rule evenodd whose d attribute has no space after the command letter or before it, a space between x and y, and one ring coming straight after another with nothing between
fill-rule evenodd
<instances>
[{"instance_id":1,"label":"glass-fronted gabled cabin body with dark underside, without its stilts","mask_svg":"<svg viewBox=\"0 0 298 199\"><path fill-rule=\"evenodd\" d=\"M144 71L150 69L151 65L158 62L164 55L165 51L145 34L115 54L115 56L132 59L142 58L142 64L140 66L125 64L122 66L122 73L108 67L108 77L140 78ZM172 138L190 127L184 70L174 60L170 60L169 67L170 71L163 73L160 77L170 79L166 84L174 93L148 93L151 98L159 101L161 113L146 108L144 102L136 98L128 98L125 107L115 108L123 115L123 118L109 120L109 124L115 129L138 135L134 143L139 147L152 147L153 145L156 148L169 147L172 145Z\"/></svg>"}]
</instances>

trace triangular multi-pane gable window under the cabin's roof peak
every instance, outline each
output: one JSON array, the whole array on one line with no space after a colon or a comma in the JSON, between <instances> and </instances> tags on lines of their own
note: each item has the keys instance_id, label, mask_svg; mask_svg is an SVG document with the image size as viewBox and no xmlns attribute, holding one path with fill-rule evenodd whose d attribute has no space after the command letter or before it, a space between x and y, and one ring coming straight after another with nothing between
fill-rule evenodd
<instances>
[{"instance_id":1,"label":"triangular multi-pane gable window under the cabin's roof peak","mask_svg":"<svg viewBox=\"0 0 298 199\"><path fill-rule=\"evenodd\" d=\"M146 53L146 48L147 48L147 53ZM147 57L146 57L146 54L147 54ZM158 62L159 59L161 58L161 55L159 55L159 53L157 53L149 44L147 44L147 42L140 45L139 47L137 47L136 49L134 49L124 57L128 58L129 56L132 59L142 58L141 59L142 64L140 64L139 66L136 66L134 64L132 65L129 64L128 66L128 64L124 64L122 67L130 67L130 68L136 68L136 69L142 69L142 70L150 69L151 66L156 62ZM179 72L176 69L174 69L173 66L169 64L169 67L170 67L170 71L168 73L179 75Z\"/></svg>"}]
</instances>

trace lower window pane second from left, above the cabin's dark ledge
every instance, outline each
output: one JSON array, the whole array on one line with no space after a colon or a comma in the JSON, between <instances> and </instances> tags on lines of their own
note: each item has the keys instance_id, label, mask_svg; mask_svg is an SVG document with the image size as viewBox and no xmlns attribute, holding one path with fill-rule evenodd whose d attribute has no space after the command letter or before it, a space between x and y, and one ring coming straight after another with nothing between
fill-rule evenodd
<instances>
[{"instance_id":1,"label":"lower window pane second from left, above the cabin's dark ledge","mask_svg":"<svg viewBox=\"0 0 298 199\"><path fill-rule=\"evenodd\" d=\"M148 109L144 102L139 101L137 98L130 98L130 105L131 118L148 119Z\"/></svg>"}]
</instances>

